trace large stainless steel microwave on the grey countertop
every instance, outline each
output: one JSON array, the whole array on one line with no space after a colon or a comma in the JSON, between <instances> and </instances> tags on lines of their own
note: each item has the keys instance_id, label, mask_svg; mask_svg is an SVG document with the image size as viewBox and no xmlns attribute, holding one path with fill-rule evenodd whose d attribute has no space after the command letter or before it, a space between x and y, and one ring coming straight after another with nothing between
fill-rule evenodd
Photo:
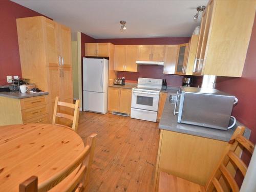
<instances>
[{"instance_id":1,"label":"large stainless steel microwave on the grey countertop","mask_svg":"<svg viewBox=\"0 0 256 192\"><path fill-rule=\"evenodd\" d=\"M236 97L216 89L181 87L174 115L178 115L178 123L227 130L235 101Z\"/></svg>"}]
</instances>

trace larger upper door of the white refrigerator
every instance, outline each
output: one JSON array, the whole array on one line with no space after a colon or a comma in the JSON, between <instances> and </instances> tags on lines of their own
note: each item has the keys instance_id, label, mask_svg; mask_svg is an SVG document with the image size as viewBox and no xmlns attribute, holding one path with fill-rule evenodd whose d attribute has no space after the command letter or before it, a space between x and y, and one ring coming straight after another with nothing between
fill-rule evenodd
<instances>
[{"instance_id":1,"label":"larger upper door of the white refrigerator","mask_svg":"<svg viewBox=\"0 0 256 192\"><path fill-rule=\"evenodd\" d=\"M108 65L106 59L83 58L83 91L106 92Z\"/></svg>"}]
</instances>

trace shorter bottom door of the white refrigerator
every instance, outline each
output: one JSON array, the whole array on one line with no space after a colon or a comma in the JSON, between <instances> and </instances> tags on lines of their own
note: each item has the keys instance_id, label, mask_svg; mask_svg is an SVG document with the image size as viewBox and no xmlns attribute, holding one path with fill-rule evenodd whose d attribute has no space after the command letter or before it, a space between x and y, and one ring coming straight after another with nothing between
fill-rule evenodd
<instances>
[{"instance_id":1,"label":"shorter bottom door of the white refrigerator","mask_svg":"<svg viewBox=\"0 0 256 192\"><path fill-rule=\"evenodd\" d=\"M107 112L108 93L83 92L83 111L91 111L96 113Z\"/></svg>"}]
</instances>

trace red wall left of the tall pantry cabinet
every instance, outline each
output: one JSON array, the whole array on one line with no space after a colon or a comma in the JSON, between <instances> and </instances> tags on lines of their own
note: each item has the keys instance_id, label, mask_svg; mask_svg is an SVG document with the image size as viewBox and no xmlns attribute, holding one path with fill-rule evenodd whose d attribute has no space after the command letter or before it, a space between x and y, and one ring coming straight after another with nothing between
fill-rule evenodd
<instances>
[{"instance_id":1,"label":"red wall left of the tall pantry cabinet","mask_svg":"<svg viewBox=\"0 0 256 192\"><path fill-rule=\"evenodd\" d=\"M42 14L11 1L0 1L0 86L7 84L7 75L22 76L16 18L40 15Z\"/></svg>"}]
</instances>

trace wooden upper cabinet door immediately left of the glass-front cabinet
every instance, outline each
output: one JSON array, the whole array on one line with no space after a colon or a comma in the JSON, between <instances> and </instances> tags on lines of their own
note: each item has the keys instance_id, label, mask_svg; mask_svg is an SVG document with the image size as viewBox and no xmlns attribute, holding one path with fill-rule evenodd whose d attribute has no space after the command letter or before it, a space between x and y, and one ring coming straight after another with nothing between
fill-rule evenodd
<instances>
[{"instance_id":1,"label":"wooden upper cabinet door immediately left of the glass-front cabinet","mask_svg":"<svg viewBox=\"0 0 256 192\"><path fill-rule=\"evenodd\" d=\"M175 74L178 45L166 45L163 74Z\"/></svg>"}]
</instances>

